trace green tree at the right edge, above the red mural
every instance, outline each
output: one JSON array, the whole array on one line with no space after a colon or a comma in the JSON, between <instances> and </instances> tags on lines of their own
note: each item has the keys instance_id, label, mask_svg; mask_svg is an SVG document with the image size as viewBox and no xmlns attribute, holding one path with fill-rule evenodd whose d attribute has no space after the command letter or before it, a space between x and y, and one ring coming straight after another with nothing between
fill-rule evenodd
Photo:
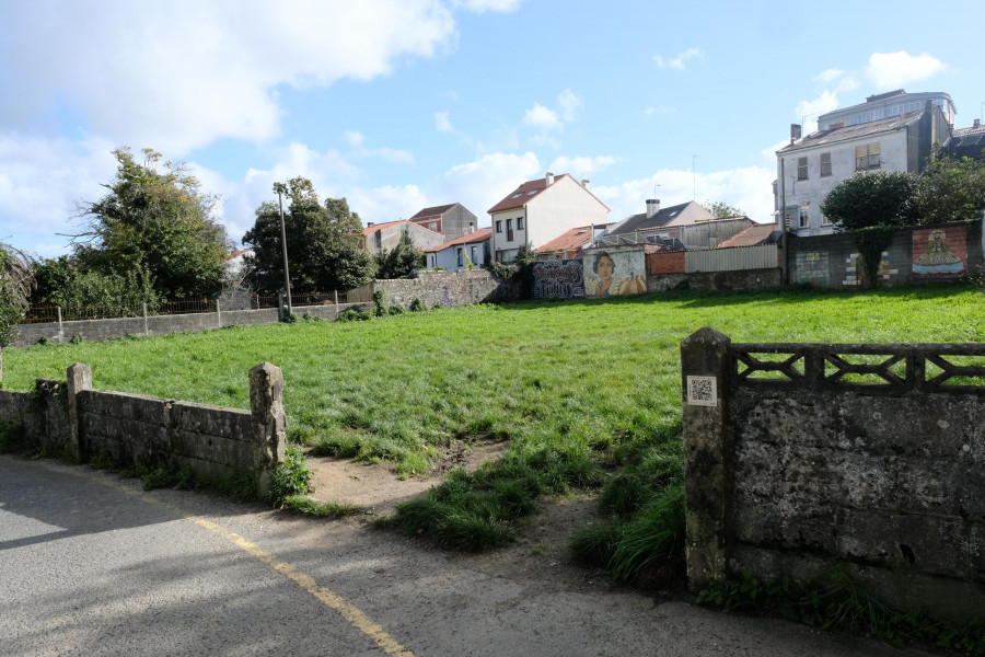
<instances>
[{"instance_id":1,"label":"green tree at the right edge, above the red mural","mask_svg":"<svg viewBox=\"0 0 985 657\"><path fill-rule=\"evenodd\" d=\"M985 162L935 153L920 176L917 206L923 223L981 219L985 214Z\"/></svg>"}]
</instances>

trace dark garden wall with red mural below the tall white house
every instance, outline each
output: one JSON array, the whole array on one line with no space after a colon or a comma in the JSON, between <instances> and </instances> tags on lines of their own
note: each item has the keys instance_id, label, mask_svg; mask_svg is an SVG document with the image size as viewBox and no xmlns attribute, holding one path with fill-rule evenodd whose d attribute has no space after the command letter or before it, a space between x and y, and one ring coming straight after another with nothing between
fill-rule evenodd
<instances>
[{"instance_id":1,"label":"dark garden wall with red mural below the tall white house","mask_svg":"<svg viewBox=\"0 0 985 657\"><path fill-rule=\"evenodd\" d=\"M850 289L865 284L851 233L787 239L790 283ZM940 223L899 229L879 264L879 284L952 281L981 272L982 221Z\"/></svg>"}]
</instances>

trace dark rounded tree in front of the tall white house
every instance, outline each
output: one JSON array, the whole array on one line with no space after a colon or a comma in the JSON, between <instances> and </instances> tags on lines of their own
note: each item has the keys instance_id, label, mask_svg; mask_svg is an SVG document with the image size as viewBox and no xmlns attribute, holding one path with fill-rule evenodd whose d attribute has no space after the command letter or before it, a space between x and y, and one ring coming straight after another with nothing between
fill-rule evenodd
<instances>
[{"instance_id":1,"label":"dark rounded tree in front of the tall white house","mask_svg":"<svg viewBox=\"0 0 985 657\"><path fill-rule=\"evenodd\" d=\"M919 180L903 171L856 173L842 181L821 203L824 216L842 231L919 223Z\"/></svg>"}]
</instances>

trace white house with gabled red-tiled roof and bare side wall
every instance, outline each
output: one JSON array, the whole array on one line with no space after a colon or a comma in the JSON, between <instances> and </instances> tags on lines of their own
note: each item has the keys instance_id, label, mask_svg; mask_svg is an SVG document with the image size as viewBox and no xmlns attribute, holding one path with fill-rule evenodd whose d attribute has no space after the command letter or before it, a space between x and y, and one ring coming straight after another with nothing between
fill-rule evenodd
<instances>
[{"instance_id":1,"label":"white house with gabled red-tiled roof and bare side wall","mask_svg":"<svg viewBox=\"0 0 985 657\"><path fill-rule=\"evenodd\" d=\"M511 263L517 251L534 249L566 230L607 222L609 206L589 189L589 181L549 171L528 181L489 208L493 219L490 251L498 263Z\"/></svg>"}]
</instances>

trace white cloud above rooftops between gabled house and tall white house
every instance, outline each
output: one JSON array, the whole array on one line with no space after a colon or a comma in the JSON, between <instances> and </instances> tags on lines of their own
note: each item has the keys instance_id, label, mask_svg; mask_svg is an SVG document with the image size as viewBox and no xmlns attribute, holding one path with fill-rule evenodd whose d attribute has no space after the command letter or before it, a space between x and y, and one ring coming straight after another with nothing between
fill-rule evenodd
<instances>
[{"instance_id":1,"label":"white cloud above rooftops between gabled house and tall white house","mask_svg":"<svg viewBox=\"0 0 985 657\"><path fill-rule=\"evenodd\" d=\"M646 199L657 198L663 207L703 199L727 200L741 208L750 219L762 223L773 221L773 178L775 173L764 166L748 166L698 173L662 169L650 176L627 181L619 185L593 186L592 192L612 208L610 221L622 221L630 215L646 210Z\"/></svg>"}]
</instances>

